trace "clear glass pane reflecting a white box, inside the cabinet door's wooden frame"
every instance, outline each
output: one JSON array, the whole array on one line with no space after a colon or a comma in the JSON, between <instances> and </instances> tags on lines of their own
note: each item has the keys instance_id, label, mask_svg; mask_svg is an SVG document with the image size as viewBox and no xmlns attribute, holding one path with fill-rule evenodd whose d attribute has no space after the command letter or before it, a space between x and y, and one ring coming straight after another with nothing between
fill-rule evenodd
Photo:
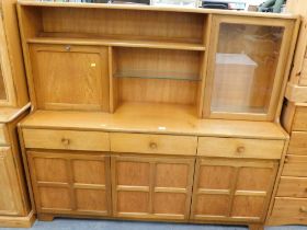
<instances>
[{"instance_id":1,"label":"clear glass pane reflecting a white box, inside the cabinet door's wooden frame","mask_svg":"<svg viewBox=\"0 0 307 230\"><path fill-rule=\"evenodd\" d=\"M284 28L221 23L213 112L266 114Z\"/></svg>"}]
</instances>

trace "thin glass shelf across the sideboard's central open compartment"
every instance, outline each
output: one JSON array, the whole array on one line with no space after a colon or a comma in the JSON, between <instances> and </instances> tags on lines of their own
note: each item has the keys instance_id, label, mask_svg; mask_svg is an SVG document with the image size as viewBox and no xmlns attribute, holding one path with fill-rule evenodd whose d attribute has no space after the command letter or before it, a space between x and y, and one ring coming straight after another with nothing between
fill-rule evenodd
<instances>
[{"instance_id":1,"label":"thin glass shelf across the sideboard's central open compartment","mask_svg":"<svg viewBox=\"0 0 307 230\"><path fill-rule=\"evenodd\" d=\"M162 72L162 71L149 71L149 70L133 70L121 71L114 73L115 78L140 78L140 79L168 79L168 80L184 80L184 81L200 81L197 74L185 72Z\"/></svg>"}]
</instances>

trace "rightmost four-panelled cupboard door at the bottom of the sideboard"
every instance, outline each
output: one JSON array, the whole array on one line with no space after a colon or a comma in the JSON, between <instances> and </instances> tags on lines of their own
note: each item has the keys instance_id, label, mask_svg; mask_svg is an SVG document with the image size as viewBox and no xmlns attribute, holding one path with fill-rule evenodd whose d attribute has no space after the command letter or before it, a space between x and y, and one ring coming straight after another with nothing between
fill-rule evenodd
<instances>
[{"instance_id":1,"label":"rightmost four-panelled cupboard door at the bottom of the sideboard","mask_svg":"<svg viewBox=\"0 0 307 230\"><path fill-rule=\"evenodd\" d=\"M276 170L269 160L197 159L191 219L263 221Z\"/></svg>"}]
</instances>

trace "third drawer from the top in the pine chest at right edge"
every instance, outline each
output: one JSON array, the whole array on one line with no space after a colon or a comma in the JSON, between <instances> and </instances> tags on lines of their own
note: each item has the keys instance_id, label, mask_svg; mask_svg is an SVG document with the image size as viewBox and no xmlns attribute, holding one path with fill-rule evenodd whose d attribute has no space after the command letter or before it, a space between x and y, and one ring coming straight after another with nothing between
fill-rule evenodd
<instances>
[{"instance_id":1,"label":"third drawer from the top in the pine chest at right edge","mask_svg":"<svg viewBox=\"0 0 307 230\"><path fill-rule=\"evenodd\" d=\"M307 157L288 154L282 175L285 176L307 176Z\"/></svg>"}]
</instances>

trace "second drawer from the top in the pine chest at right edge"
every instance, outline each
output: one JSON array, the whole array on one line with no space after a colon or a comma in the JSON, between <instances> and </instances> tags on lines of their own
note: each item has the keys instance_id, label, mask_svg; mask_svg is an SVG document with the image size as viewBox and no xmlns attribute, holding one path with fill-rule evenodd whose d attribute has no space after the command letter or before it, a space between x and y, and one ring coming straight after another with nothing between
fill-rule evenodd
<instances>
[{"instance_id":1,"label":"second drawer from the top in the pine chest at right edge","mask_svg":"<svg viewBox=\"0 0 307 230\"><path fill-rule=\"evenodd\" d=\"M307 156L307 133L293 131L291 135L288 153Z\"/></svg>"}]
</instances>

